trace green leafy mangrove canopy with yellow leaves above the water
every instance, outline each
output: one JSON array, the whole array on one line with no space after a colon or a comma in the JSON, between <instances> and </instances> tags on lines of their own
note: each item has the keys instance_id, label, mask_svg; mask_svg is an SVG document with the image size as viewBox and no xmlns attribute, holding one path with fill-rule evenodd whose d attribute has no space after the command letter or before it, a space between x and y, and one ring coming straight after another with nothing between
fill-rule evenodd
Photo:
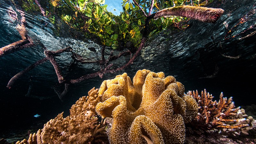
<instances>
[{"instance_id":1,"label":"green leafy mangrove canopy with yellow leaves above the water","mask_svg":"<svg viewBox=\"0 0 256 144\"><path fill-rule=\"evenodd\" d=\"M31 3L31 0L28 1ZM107 11L108 5L105 4L105 0L48 0L49 9L46 11L46 15L52 23L55 22L55 16L58 16L71 28L84 31L87 38L99 37L102 45L117 49L120 42L127 47L128 44L139 46L145 28L145 15L149 14L152 2L153 7L150 13L181 5L205 6L212 1L123 0L123 12L120 12L119 16L115 16ZM148 24L147 35L155 35L171 25L180 29L187 28L188 25L180 25L181 21L186 20L188 19L177 16L152 19Z\"/></svg>"}]
</instances>

